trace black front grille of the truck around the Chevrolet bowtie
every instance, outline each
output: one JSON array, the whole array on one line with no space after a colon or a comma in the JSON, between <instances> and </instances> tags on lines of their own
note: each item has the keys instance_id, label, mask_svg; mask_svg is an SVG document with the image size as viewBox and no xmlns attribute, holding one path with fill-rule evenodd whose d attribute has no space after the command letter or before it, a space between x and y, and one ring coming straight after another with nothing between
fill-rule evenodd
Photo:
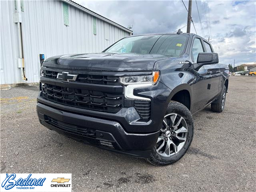
<instances>
[{"instance_id":1,"label":"black front grille of the truck around the Chevrolet bowtie","mask_svg":"<svg viewBox=\"0 0 256 192\"><path fill-rule=\"evenodd\" d=\"M61 73L62 70L42 67L42 76L51 79L51 81L48 81L42 86L42 97L44 99L66 106L107 113L117 113L123 107L134 107L142 121L148 121L150 119L150 101L128 99L121 92L104 91L104 85L120 86L119 77L70 72L71 74L78 74L76 82L81 84L81 88L70 88L70 86L65 87L65 84L55 84L59 72ZM102 88L99 88L99 90L87 90L83 88L83 83L85 85L91 84L90 86L93 84L102 84Z\"/></svg>"}]
</instances>

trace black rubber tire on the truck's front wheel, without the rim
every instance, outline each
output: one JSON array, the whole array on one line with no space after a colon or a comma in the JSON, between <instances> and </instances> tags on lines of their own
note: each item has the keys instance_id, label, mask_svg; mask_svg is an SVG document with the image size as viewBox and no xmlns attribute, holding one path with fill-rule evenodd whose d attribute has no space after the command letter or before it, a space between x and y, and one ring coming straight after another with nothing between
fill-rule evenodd
<instances>
[{"instance_id":1,"label":"black rubber tire on the truck's front wheel, without the rim","mask_svg":"<svg viewBox=\"0 0 256 192\"><path fill-rule=\"evenodd\" d=\"M174 154L172 156L168 156L168 157L164 157L164 156L161 156L160 154L158 154L158 152L156 152L156 146L154 146L152 148L150 157L147 160L148 160L148 162L150 162L151 164L153 164L155 166L165 166L165 165L173 164L173 163L177 162L178 160L180 160L180 158L182 158L184 156L184 154L186 153L186 151L188 150L188 148L192 142L192 139L193 139L194 121L193 121L192 115L191 115L190 111L188 110L188 108L186 108L186 106L184 106L183 104L181 104L179 102L170 101L170 103L168 104L167 110L166 110L166 115L172 114L172 113L182 116L184 118L184 120L186 121L187 130L188 130L187 138L185 141L186 143L184 144L182 149L180 149L180 151L178 151L176 154Z\"/></svg>"}]
</instances>

